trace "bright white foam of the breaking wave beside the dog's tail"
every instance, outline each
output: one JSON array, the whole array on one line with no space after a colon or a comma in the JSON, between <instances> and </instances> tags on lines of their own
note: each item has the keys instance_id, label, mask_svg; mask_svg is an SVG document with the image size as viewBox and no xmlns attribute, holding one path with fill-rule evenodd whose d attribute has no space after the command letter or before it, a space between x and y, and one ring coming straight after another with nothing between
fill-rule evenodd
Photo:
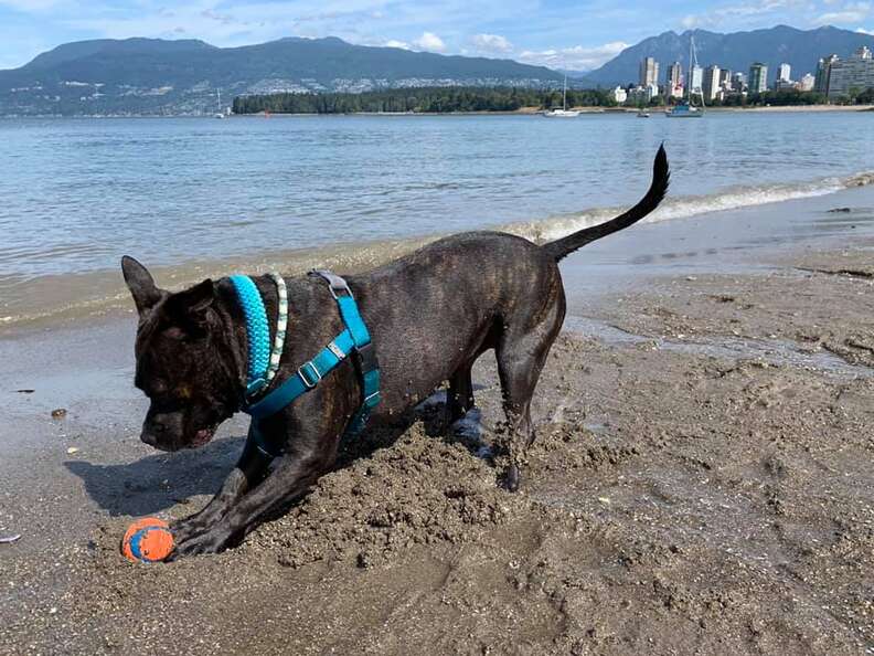
<instances>
[{"instance_id":1,"label":"bright white foam of the breaking wave beside the dog's tail","mask_svg":"<svg viewBox=\"0 0 874 656\"><path fill-rule=\"evenodd\" d=\"M674 219L689 219L712 212L739 210L788 200L813 198L835 193L854 187L874 184L874 171L863 171L846 178L822 178L811 182L733 187L708 195L669 198L643 222L657 223ZM555 216L529 223L512 223L504 230L536 242L548 242L584 230L626 211L627 208L598 208L578 214Z\"/></svg>"}]
</instances>

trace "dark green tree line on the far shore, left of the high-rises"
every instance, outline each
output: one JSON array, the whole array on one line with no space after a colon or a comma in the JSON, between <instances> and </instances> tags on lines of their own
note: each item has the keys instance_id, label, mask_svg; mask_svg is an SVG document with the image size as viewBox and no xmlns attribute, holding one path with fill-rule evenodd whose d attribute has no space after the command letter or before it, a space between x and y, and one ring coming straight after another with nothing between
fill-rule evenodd
<instances>
[{"instance_id":1,"label":"dark green tree line on the far shore, left of the high-rises","mask_svg":"<svg viewBox=\"0 0 874 656\"><path fill-rule=\"evenodd\" d=\"M361 94L270 94L234 98L234 114L515 112L562 106L562 92L511 87L396 88ZM567 92L568 107L616 106L606 91Z\"/></svg>"}]
</instances>

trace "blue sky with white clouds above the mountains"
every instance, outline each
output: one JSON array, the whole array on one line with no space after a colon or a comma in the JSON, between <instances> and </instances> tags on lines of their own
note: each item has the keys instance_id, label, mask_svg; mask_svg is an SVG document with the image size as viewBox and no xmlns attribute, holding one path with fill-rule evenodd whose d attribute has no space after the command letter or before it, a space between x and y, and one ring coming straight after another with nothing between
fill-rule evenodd
<instances>
[{"instance_id":1,"label":"blue sky with white clouds above the mountains","mask_svg":"<svg viewBox=\"0 0 874 656\"><path fill-rule=\"evenodd\" d=\"M83 39L189 38L230 46L335 35L585 70L665 30L777 23L874 33L874 0L0 0L0 68Z\"/></svg>"}]
</instances>

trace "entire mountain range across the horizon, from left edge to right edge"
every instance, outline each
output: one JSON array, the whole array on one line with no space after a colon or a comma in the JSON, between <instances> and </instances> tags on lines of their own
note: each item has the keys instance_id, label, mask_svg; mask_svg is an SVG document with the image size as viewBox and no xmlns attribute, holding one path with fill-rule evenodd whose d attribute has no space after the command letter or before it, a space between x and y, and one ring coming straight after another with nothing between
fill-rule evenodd
<instances>
[{"instance_id":1,"label":"entire mountain range across the horizon, from left edge to right edge","mask_svg":"<svg viewBox=\"0 0 874 656\"><path fill-rule=\"evenodd\" d=\"M746 72L758 61L768 64L771 81L784 62L798 78L814 72L821 56L845 57L861 45L874 49L874 36L831 27L664 32L623 50L596 71L567 73L576 87L627 85L638 81L640 61L652 56L664 78L670 63L688 65L691 38L701 65ZM335 38L289 38L243 47L196 40L96 40L60 45L20 68L0 71L0 116L203 114L218 112L243 94L544 87L561 85L563 77L564 72L511 60L353 45Z\"/></svg>"}]
</instances>

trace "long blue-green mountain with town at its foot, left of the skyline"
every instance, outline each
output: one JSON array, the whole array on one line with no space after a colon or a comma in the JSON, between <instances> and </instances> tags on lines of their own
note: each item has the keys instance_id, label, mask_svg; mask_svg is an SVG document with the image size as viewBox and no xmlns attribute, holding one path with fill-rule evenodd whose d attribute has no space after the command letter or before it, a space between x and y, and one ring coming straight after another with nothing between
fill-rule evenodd
<instances>
[{"instance_id":1,"label":"long blue-green mountain with town at its foot, left of the skyline","mask_svg":"<svg viewBox=\"0 0 874 656\"><path fill-rule=\"evenodd\" d=\"M555 71L510 60L352 45L335 38L243 47L98 40L60 45L20 68L0 71L0 115L202 114L252 93L530 87L561 80Z\"/></svg>"}]
</instances>

